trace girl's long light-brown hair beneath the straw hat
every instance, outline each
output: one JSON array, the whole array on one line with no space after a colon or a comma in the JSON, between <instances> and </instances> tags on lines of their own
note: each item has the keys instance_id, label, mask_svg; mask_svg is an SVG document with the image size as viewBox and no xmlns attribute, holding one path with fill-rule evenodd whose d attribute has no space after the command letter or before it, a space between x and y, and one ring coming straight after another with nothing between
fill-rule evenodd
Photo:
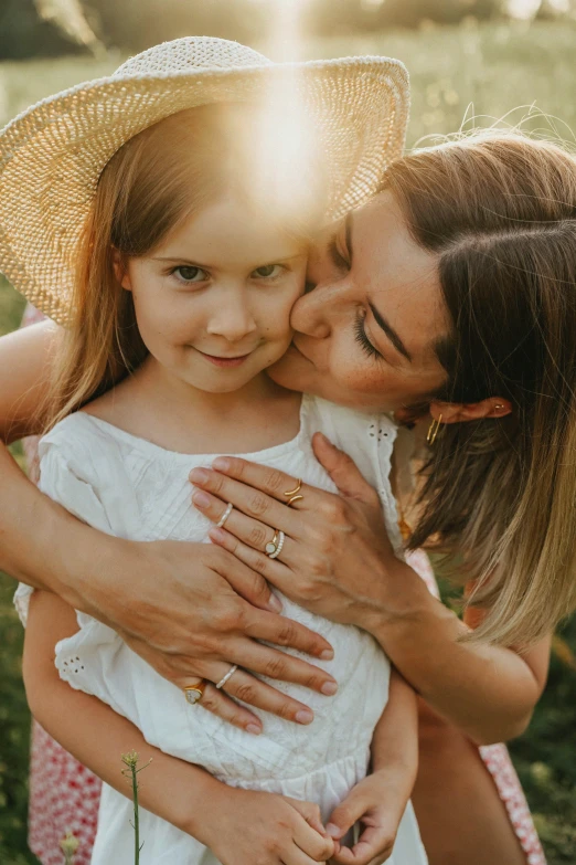
<instances>
[{"instance_id":1,"label":"girl's long light-brown hair beneath the straw hat","mask_svg":"<svg viewBox=\"0 0 576 865\"><path fill-rule=\"evenodd\" d=\"M132 372L147 356L132 295L117 278L183 220L218 198L309 242L323 209L322 175L310 160L280 177L266 108L220 103L179 112L127 141L104 169L85 226L72 325L58 346L40 407L49 430ZM270 139L273 141L273 139ZM285 167L286 168L286 167ZM225 226L223 226L225 230Z\"/></svg>"}]
</instances>

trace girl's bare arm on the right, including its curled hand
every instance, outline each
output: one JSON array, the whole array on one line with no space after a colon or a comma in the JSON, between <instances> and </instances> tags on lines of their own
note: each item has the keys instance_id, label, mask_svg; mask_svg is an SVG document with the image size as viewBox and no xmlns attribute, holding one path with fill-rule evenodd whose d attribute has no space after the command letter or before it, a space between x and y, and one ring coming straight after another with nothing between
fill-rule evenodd
<instances>
[{"instance_id":1,"label":"girl's bare arm on the right, including its curled hand","mask_svg":"<svg viewBox=\"0 0 576 865\"><path fill-rule=\"evenodd\" d=\"M418 770L416 694L392 668L388 702L372 737L372 773L360 781L332 812L328 832L339 840L360 821L364 829L352 851L334 862L365 865L392 853L399 822Z\"/></svg>"}]
</instances>

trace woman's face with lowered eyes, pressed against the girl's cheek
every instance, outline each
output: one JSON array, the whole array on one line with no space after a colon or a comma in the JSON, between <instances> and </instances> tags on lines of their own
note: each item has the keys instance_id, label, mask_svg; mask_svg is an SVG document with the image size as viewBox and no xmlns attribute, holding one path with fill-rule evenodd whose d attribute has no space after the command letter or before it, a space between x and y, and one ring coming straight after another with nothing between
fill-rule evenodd
<instances>
[{"instance_id":1,"label":"woman's face with lowered eyes, pressed against the girl's cheek","mask_svg":"<svg viewBox=\"0 0 576 865\"><path fill-rule=\"evenodd\" d=\"M436 257L410 236L390 192L334 226L311 257L279 384L356 409L394 411L441 387L448 334Z\"/></svg>"}]
</instances>

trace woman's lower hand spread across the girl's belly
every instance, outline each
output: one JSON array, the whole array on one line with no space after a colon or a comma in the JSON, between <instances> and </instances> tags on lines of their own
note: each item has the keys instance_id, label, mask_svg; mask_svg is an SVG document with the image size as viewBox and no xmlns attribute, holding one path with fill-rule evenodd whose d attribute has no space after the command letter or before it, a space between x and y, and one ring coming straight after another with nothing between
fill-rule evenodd
<instances>
[{"instance_id":1,"label":"woman's lower hand spread across the girl's belly","mask_svg":"<svg viewBox=\"0 0 576 865\"><path fill-rule=\"evenodd\" d=\"M235 700L297 724L310 724L313 714L252 672L322 694L335 693L334 679L323 669L259 642L320 657L333 655L323 637L271 612L274 595L265 580L230 552L211 544L175 541L131 544L129 552L131 559L122 555L115 562L122 569L122 579L114 581L114 572L108 572L107 597L93 599L97 608L87 612L110 624L135 652L180 688L195 685L200 678L217 683L237 664L241 668L222 689L213 684L206 687L204 708L257 735L260 719ZM130 604L127 592L137 597L138 603ZM118 609L111 618L115 602ZM106 610L106 618L98 615L98 606Z\"/></svg>"}]
</instances>

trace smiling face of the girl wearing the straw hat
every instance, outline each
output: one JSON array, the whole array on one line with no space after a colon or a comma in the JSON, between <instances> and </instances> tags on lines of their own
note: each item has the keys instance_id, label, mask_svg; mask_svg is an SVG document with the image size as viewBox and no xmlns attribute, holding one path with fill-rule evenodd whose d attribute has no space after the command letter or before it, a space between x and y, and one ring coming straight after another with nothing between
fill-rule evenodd
<instances>
[{"instance_id":1,"label":"smiling face of the girl wearing the straw hat","mask_svg":"<svg viewBox=\"0 0 576 865\"><path fill-rule=\"evenodd\" d=\"M236 391L277 361L307 247L233 199L186 219L122 274L151 357L199 390Z\"/></svg>"}]
</instances>

